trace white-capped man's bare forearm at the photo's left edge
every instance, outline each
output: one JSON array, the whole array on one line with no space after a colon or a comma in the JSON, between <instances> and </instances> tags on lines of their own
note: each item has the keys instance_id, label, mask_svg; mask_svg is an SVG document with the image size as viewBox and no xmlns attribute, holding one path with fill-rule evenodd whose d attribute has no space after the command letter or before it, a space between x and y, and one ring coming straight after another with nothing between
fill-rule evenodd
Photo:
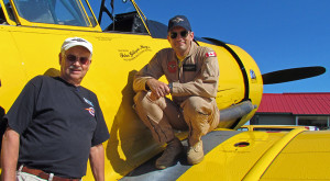
<instances>
[{"instance_id":1,"label":"white-capped man's bare forearm at the photo's left edge","mask_svg":"<svg viewBox=\"0 0 330 181\"><path fill-rule=\"evenodd\" d=\"M20 135L8 127L2 138L1 166L2 180L15 181L19 159Z\"/></svg>"}]
</instances>

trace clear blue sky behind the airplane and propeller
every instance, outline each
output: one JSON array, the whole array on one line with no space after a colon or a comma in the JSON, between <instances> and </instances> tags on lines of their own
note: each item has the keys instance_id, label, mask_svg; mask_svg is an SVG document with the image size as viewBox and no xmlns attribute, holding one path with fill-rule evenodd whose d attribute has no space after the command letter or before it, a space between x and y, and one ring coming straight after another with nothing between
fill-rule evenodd
<instances>
[{"instance_id":1,"label":"clear blue sky behind the airplane and propeller","mask_svg":"<svg viewBox=\"0 0 330 181\"><path fill-rule=\"evenodd\" d=\"M98 16L95 0L90 1ZM266 73L323 66L315 78L264 86L265 93L330 92L330 0L136 0L147 19L164 24L186 15L196 36L245 49Z\"/></svg>"}]
</instances>

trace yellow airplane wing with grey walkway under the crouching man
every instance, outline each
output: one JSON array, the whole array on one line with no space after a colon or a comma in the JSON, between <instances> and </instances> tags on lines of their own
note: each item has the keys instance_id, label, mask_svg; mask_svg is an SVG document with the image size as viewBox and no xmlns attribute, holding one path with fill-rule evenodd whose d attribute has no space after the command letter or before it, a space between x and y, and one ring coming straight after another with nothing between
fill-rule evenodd
<instances>
[{"instance_id":1,"label":"yellow airplane wing with grey walkway under the crouching man","mask_svg":"<svg viewBox=\"0 0 330 181\"><path fill-rule=\"evenodd\" d=\"M188 166L184 156L156 170L158 155L121 180L329 180L329 133L215 131L202 137L199 165Z\"/></svg>"}]
</instances>

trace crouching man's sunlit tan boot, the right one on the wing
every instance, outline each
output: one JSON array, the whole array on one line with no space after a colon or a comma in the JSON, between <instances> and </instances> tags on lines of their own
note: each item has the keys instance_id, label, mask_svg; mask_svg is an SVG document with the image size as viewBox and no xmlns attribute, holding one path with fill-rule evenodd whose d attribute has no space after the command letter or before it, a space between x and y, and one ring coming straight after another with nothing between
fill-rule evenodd
<instances>
[{"instance_id":1,"label":"crouching man's sunlit tan boot, the right one on the wing","mask_svg":"<svg viewBox=\"0 0 330 181\"><path fill-rule=\"evenodd\" d=\"M197 165L204 159L202 142L188 147L187 161L189 165Z\"/></svg>"}]
</instances>

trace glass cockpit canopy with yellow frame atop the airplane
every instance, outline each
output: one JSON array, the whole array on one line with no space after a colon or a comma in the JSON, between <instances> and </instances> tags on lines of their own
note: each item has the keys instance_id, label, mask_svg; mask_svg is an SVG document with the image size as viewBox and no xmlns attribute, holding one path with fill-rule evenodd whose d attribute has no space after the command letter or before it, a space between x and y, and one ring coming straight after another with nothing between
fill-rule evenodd
<instances>
[{"instance_id":1,"label":"glass cockpit canopy with yellow frame atop the airplane","mask_svg":"<svg viewBox=\"0 0 330 181\"><path fill-rule=\"evenodd\" d=\"M100 0L92 5L98 20L88 0L2 0L0 24L167 36L167 26L147 20L133 0Z\"/></svg>"}]
</instances>

